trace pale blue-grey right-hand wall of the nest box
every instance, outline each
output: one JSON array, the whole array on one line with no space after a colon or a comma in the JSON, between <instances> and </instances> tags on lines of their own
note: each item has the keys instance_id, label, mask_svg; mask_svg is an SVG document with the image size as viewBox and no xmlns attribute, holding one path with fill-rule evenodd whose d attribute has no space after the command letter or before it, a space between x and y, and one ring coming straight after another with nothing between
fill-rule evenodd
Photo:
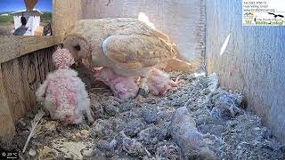
<instances>
[{"instance_id":1,"label":"pale blue-grey right-hand wall of the nest box","mask_svg":"<svg viewBox=\"0 0 285 160\"><path fill-rule=\"evenodd\" d=\"M248 108L285 143L285 28L242 27L241 7L240 0L207 0L207 70L243 92Z\"/></svg>"}]
</instances>

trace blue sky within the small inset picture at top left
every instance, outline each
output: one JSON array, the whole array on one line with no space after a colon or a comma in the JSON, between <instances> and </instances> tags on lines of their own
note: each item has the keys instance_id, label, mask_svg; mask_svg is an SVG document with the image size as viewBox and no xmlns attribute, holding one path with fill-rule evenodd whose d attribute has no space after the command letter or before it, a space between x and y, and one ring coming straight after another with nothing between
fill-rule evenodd
<instances>
[{"instance_id":1,"label":"blue sky within the small inset picture at top left","mask_svg":"<svg viewBox=\"0 0 285 160\"><path fill-rule=\"evenodd\" d=\"M35 8L41 12L52 12L53 0L38 0ZM0 0L0 12L25 10L24 0Z\"/></svg>"}]
</instances>

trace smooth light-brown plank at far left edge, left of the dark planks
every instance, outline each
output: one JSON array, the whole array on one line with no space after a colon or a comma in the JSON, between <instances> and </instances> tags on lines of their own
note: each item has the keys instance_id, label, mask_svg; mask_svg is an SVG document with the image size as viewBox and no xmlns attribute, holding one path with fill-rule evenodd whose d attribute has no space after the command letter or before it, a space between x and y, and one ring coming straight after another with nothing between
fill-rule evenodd
<instances>
[{"instance_id":1,"label":"smooth light-brown plank at far left edge, left of the dark planks","mask_svg":"<svg viewBox=\"0 0 285 160\"><path fill-rule=\"evenodd\" d=\"M3 76L0 65L0 141L11 141L14 133L15 126L12 121L12 115L8 106L7 99L4 92Z\"/></svg>"}]
</instances>

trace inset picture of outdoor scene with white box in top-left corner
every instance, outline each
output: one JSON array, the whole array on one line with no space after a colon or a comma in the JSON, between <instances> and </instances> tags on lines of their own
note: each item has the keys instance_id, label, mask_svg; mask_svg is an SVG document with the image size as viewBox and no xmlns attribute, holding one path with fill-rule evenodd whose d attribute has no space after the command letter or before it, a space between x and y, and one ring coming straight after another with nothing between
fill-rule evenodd
<instances>
[{"instance_id":1,"label":"inset picture of outdoor scene with white box in top-left corner","mask_svg":"<svg viewBox=\"0 0 285 160\"><path fill-rule=\"evenodd\" d=\"M53 0L1 0L0 36L52 36Z\"/></svg>"}]
</instances>

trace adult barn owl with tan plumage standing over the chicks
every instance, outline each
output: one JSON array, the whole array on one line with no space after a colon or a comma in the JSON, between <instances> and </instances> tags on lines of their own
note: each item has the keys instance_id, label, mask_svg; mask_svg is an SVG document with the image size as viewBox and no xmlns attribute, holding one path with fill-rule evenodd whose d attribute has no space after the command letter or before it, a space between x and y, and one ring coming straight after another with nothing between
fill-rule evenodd
<instances>
[{"instance_id":1,"label":"adult barn owl with tan plumage standing over the chicks","mask_svg":"<svg viewBox=\"0 0 285 160\"><path fill-rule=\"evenodd\" d=\"M78 20L63 45L90 69L105 67L121 76L141 76L139 95L147 92L149 70L179 54L168 36L131 18Z\"/></svg>"}]
</instances>

